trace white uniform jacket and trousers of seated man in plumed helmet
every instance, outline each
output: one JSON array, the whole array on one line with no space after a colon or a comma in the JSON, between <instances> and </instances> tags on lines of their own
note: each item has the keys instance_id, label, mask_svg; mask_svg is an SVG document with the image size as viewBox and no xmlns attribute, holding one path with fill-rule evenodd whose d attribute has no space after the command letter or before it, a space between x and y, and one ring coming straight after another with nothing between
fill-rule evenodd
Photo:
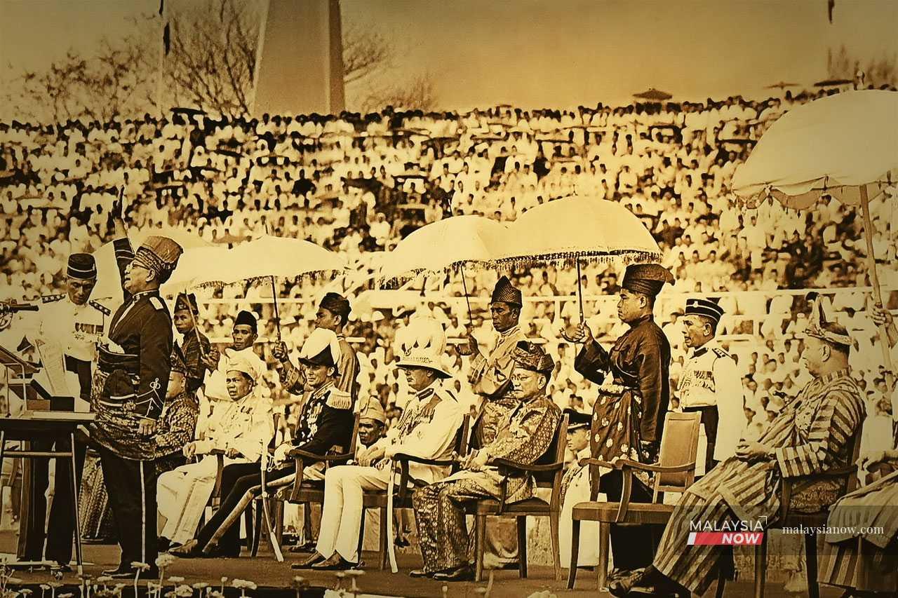
<instances>
[{"instance_id":1,"label":"white uniform jacket and trousers of seated man in plumed helmet","mask_svg":"<svg viewBox=\"0 0 898 598\"><path fill-rule=\"evenodd\" d=\"M436 395L433 416L421 412ZM362 521L362 492L384 490L390 479L391 459L405 453L422 459L446 459L462 424L464 412L452 391L437 380L418 391L405 406L400 421L372 447L383 448L384 458L374 467L342 465L330 468L324 476L324 506L316 550L325 558L334 551L349 562L358 562L358 534ZM445 478L448 468L410 463L409 475L427 483Z\"/></svg>"}]
</instances>

